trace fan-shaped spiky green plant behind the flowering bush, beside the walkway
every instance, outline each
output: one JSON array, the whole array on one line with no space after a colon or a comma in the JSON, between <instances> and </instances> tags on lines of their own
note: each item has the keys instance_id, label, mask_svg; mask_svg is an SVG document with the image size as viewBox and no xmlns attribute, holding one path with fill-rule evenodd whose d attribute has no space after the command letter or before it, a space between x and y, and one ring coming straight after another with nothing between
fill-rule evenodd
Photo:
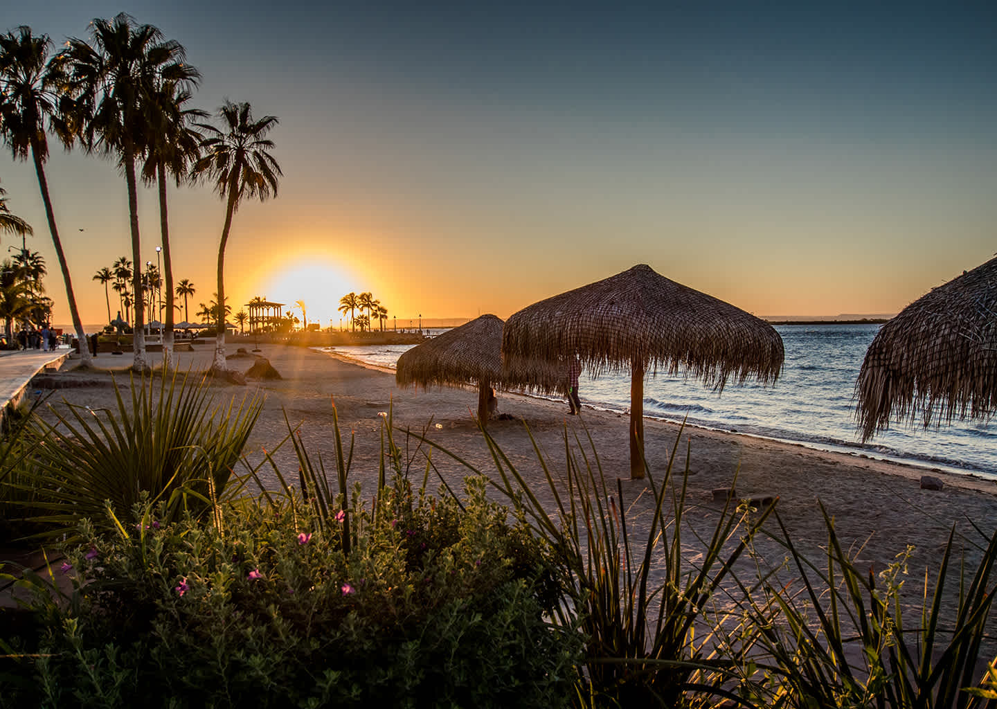
<instances>
[{"instance_id":1,"label":"fan-shaped spiky green plant behind the flowering bush, beside the walkway","mask_svg":"<svg viewBox=\"0 0 997 709\"><path fill-rule=\"evenodd\" d=\"M220 498L262 408L258 394L215 404L204 378L173 373L114 383L116 410L49 406L56 423L33 417L33 445L21 489L42 491L30 520L73 529L81 518L120 515L140 500L166 502L167 520L199 513Z\"/></svg>"}]
</instances>

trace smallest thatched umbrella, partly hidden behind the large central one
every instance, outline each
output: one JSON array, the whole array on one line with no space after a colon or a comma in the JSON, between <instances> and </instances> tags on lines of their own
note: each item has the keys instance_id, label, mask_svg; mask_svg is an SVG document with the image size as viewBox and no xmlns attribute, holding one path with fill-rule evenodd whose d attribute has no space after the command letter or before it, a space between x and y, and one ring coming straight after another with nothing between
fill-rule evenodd
<instances>
[{"instance_id":1,"label":"smallest thatched umbrella, partly hidden behind the large central one","mask_svg":"<svg viewBox=\"0 0 997 709\"><path fill-rule=\"evenodd\" d=\"M398 358L395 381L399 386L478 384L478 418L489 419L492 387L501 384L501 326L495 315L482 315Z\"/></svg>"}]
</instances>

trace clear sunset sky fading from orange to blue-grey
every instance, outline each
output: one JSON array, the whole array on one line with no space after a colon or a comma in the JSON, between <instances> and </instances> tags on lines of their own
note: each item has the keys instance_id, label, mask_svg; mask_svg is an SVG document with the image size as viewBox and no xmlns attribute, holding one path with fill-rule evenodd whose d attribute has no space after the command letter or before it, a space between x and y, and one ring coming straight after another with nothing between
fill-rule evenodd
<instances>
[{"instance_id":1,"label":"clear sunset sky fading from orange to blue-grey","mask_svg":"<svg viewBox=\"0 0 997 709\"><path fill-rule=\"evenodd\" d=\"M371 291L399 327L504 318L647 263L763 317L892 314L997 251L993 3L320 5L46 0L0 29L58 45L126 11L184 45L194 105L279 119L277 196L243 202L226 250L235 310L303 300L338 326ZM47 170L104 322L124 177L56 145ZM0 154L0 185L68 322L34 170ZM201 184L169 208L175 278L207 302L224 205ZM153 189L140 210L155 262Z\"/></svg>"}]
</instances>

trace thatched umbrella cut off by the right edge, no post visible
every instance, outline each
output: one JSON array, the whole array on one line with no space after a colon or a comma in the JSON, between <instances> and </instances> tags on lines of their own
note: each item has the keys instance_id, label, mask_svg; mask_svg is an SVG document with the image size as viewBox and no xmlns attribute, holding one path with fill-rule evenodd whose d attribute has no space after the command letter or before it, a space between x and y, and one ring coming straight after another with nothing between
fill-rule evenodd
<instances>
[{"instance_id":1,"label":"thatched umbrella cut off by the right edge, no post visible","mask_svg":"<svg viewBox=\"0 0 997 709\"><path fill-rule=\"evenodd\" d=\"M858 379L862 440L891 417L924 428L997 411L997 258L934 288L879 328Z\"/></svg>"}]
</instances>

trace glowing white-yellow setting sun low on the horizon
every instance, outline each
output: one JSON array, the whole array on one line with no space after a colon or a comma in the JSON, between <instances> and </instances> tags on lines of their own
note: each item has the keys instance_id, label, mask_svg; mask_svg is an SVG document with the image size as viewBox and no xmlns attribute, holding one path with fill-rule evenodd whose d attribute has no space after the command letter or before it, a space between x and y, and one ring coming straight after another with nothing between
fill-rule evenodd
<instances>
[{"instance_id":1,"label":"glowing white-yellow setting sun low on the horizon","mask_svg":"<svg viewBox=\"0 0 997 709\"><path fill-rule=\"evenodd\" d=\"M339 321L339 299L356 290L354 279L342 265L323 258L288 263L263 281L259 295L284 303L284 313L301 317L304 303L308 323L329 327Z\"/></svg>"}]
</instances>

